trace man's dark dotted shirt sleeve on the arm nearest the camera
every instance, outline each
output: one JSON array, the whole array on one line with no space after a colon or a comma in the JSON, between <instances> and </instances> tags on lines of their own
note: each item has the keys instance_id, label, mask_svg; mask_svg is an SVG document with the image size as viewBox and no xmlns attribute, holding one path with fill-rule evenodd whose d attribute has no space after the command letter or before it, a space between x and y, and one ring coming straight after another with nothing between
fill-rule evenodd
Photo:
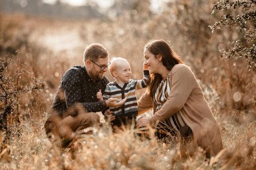
<instances>
[{"instance_id":1,"label":"man's dark dotted shirt sleeve on the arm nearest the camera","mask_svg":"<svg viewBox=\"0 0 256 170\"><path fill-rule=\"evenodd\" d=\"M87 112L100 112L106 109L105 101L97 101L92 103L81 103L83 101L82 95L84 90L82 89L82 77L79 71L69 70L63 76L62 86L65 94L65 101L68 109L74 109L77 111L77 107L82 107Z\"/></svg>"}]
</instances>

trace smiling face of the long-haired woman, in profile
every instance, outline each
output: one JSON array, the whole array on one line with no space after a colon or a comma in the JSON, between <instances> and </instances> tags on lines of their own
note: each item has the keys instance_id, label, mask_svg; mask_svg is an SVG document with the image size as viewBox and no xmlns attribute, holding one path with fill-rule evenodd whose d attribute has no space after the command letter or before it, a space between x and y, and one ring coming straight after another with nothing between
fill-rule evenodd
<instances>
[{"instance_id":1,"label":"smiling face of the long-haired woman, in profile","mask_svg":"<svg viewBox=\"0 0 256 170\"><path fill-rule=\"evenodd\" d=\"M147 65L150 74L158 73L160 62L147 48L144 49L144 64Z\"/></svg>"}]
</instances>

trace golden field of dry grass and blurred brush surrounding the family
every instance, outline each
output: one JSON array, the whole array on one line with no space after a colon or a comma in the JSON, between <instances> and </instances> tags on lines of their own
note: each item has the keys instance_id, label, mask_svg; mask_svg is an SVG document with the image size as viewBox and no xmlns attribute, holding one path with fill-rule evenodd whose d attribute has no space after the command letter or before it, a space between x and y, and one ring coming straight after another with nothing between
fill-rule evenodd
<instances>
[{"instance_id":1,"label":"golden field of dry grass and blurred brush surrounding the family","mask_svg":"<svg viewBox=\"0 0 256 170\"><path fill-rule=\"evenodd\" d=\"M0 131L0 169L256 169L255 71L249 72L242 58L220 57L220 48L228 48L238 35L228 28L210 31L208 25L214 24L218 15L210 15L207 2L200 7L187 2L185 7L197 12L191 15L179 8L184 2L158 15L146 15L147 8L142 5L137 15L127 12L109 20L1 14L0 58L10 61L1 76L12 77L12 85L3 87L9 91L30 89L35 86L32 78L43 83L40 90L10 96L13 98L7 103L1 99L1 113L10 103L13 110L7 116L11 134L5 145L6 132ZM83 64L85 46L99 42L109 50L110 58L127 58L133 78L139 79L143 45L159 38L170 42L195 73L220 125L224 150L210 159L201 148L182 156L179 139L158 141L151 136L142 140L134 129L112 133L108 126L81 135L76 152L52 146L43 127L46 114L61 75L69 67ZM109 73L106 76L113 80ZM3 88L0 91L4 94Z\"/></svg>"}]
</instances>

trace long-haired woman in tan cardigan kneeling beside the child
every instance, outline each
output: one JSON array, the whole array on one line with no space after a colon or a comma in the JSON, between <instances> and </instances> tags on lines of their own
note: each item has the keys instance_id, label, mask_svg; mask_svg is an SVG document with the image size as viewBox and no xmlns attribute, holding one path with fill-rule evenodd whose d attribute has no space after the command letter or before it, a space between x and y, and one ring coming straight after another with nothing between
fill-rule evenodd
<instances>
[{"instance_id":1,"label":"long-haired woman in tan cardigan kneeling beside the child","mask_svg":"<svg viewBox=\"0 0 256 170\"><path fill-rule=\"evenodd\" d=\"M153 108L154 115L140 118L137 127L168 125L173 134L191 135L194 146L204 148L208 156L216 155L222 149L220 127L189 67L164 40L145 45L144 64L151 77L147 92L138 100L138 112Z\"/></svg>"}]
</instances>

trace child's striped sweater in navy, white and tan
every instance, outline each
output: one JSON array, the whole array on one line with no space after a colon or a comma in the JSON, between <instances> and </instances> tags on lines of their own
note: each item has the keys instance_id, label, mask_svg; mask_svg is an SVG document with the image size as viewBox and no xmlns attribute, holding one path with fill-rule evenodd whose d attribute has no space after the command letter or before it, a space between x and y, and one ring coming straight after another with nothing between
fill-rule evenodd
<instances>
[{"instance_id":1,"label":"child's striped sweater in navy, white and tan","mask_svg":"<svg viewBox=\"0 0 256 170\"><path fill-rule=\"evenodd\" d=\"M142 80L131 79L129 82L126 82L123 87L120 87L117 82L110 82L107 84L103 95L104 100L108 100L109 98L117 98L118 101L121 101L122 99L127 98L122 107L110 107L110 111L112 111L115 116L126 116L131 113L135 113L137 115L138 105L135 91L147 87L147 80L150 77L148 70L144 70L143 73L144 75Z\"/></svg>"}]
</instances>

